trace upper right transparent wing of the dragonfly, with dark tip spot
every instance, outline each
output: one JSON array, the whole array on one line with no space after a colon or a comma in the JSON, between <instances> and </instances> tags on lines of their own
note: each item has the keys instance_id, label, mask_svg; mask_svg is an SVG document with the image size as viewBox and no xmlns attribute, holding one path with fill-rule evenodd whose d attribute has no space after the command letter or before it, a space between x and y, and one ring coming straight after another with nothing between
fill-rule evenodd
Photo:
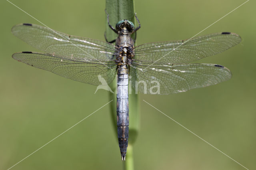
<instances>
[{"instance_id":1,"label":"upper right transparent wing of the dragonfly, with dark tip spot","mask_svg":"<svg viewBox=\"0 0 256 170\"><path fill-rule=\"evenodd\" d=\"M146 64L188 63L221 53L240 42L237 34L222 32L191 40L145 43L135 47L134 59Z\"/></svg>"}]
</instances>

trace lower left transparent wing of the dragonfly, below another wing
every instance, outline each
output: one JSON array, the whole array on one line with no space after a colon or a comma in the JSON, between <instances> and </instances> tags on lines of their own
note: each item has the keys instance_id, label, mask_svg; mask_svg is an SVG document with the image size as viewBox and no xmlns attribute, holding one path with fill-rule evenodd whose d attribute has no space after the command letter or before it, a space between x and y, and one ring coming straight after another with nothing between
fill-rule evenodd
<instances>
[{"instance_id":1,"label":"lower left transparent wing of the dragonfly, below another wing","mask_svg":"<svg viewBox=\"0 0 256 170\"><path fill-rule=\"evenodd\" d=\"M100 85L102 81L111 83L116 73L116 65L111 62L104 62L104 65L87 63L86 61L64 59L51 54L35 52L14 53L12 58L33 67L51 71L62 77L92 85Z\"/></svg>"}]
</instances>

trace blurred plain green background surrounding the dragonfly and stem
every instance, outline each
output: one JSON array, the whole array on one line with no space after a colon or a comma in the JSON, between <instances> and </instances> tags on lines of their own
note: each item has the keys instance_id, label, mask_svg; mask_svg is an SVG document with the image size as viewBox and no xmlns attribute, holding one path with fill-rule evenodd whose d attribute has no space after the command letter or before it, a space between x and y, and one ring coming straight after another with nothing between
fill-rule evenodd
<instances>
[{"instance_id":1,"label":"blurred plain green background surrounding the dragonfly and stem","mask_svg":"<svg viewBox=\"0 0 256 170\"><path fill-rule=\"evenodd\" d=\"M105 1L12 0L42 23L67 34L104 40ZM135 0L142 28L137 44L188 39L243 0ZM175 95L141 95L154 107L234 158L256 169L256 22L249 1L200 35L235 32L242 42L198 61L228 67L232 79ZM14 37L18 23L39 24L5 0L0 2L0 169L8 169L109 101L108 92L12 59L38 51ZM200 36L198 35L198 36ZM26 160L15 170L120 170L123 162L110 118L100 109ZM141 101L134 144L135 169L242 170L242 166Z\"/></svg>"}]
</instances>

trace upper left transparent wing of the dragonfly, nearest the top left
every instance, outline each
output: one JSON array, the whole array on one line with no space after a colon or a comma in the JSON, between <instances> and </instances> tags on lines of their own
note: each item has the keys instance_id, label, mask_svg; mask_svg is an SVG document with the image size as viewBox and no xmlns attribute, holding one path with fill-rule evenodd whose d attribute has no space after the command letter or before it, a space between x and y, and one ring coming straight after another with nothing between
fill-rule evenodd
<instances>
[{"instance_id":1,"label":"upper left transparent wing of the dragonfly, nearest the top left","mask_svg":"<svg viewBox=\"0 0 256 170\"><path fill-rule=\"evenodd\" d=\"M66 59L94 63L115 59L115 46L104 41L70 36L35 24L18 24L12 33L37 49Z\"/></svg>"}]
</instances>

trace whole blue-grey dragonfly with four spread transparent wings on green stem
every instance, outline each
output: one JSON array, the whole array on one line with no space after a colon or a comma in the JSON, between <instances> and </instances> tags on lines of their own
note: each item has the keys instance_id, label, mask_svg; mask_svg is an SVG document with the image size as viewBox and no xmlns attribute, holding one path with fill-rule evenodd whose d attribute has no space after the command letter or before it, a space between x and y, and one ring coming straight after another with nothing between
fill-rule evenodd
<instances>
[{"instance_id":1,"label":"whole blue-grey dragonfly with four spread transparent wings on green stem","mask_svg":"<svg viewBox=\"0 0 256 170\"><path fill-rule=\"evenodd\" d=\"M190 89L215 85L231 78L229 69L218 64L190 63L216 55L237 45L241 37L220 32L189 40L151 42L134 47L131 34L140 29L129 20L121 20L114 28L118 34L112 42L70 36L36 24L18 24L12 33L37 49L23 51L12 58L32 67L57 75L100 85L117 77L117 134L122 160L128 146L129 106L128 83L144 94L169 95Z\"/></svg>"}]
</instances>

